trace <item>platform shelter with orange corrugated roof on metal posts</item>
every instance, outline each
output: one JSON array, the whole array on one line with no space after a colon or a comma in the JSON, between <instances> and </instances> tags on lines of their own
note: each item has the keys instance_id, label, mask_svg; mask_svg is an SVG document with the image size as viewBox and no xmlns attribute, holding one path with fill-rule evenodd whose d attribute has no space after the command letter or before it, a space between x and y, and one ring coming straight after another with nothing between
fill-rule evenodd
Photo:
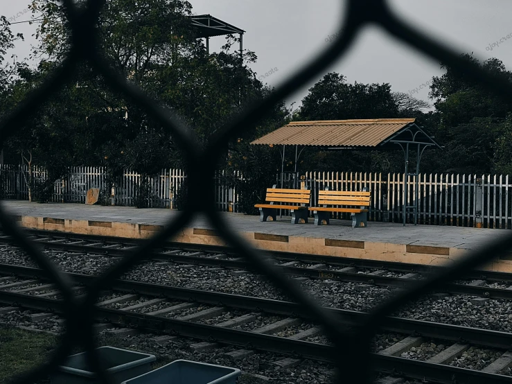
<instances>
[{"instance_id":1,"label":"platform shelter with orange corrugated roof on metal posts","mask_svg":"<svg viewBox=\"0 0 512 384\"><path fill-rule=\"evenodd\" d=\"M405 157L407 187L404 188L403 225L407 211L414 213L414 224L418 217L418 180L423 151L441 148L425 128L416 124L416 119L371 119L334 121L292 121L288 125L270 132L251 142L254 145L283 146L281 173L284 172L285 151L295 149L295 171L297 160L305 148L319 150L397 150ZM409 171L409 150L416 151L416 168ZM414 180L414 202L407 205L409 177ZM282 180L282 177L281 177Z\"/></svg>"}]
</instances>

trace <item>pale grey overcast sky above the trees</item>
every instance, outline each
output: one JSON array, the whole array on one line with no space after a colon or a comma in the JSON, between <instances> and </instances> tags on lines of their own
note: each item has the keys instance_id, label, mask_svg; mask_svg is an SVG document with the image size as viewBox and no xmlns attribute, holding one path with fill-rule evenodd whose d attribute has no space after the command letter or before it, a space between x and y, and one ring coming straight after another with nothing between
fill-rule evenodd
<instances>
[{"instance_id":1,"label":"pale grey overcast sky above the trees","mask_svg":"<svg viewBox=\"0 0 512 384\"><path fill-rule=\"evenodd\" d=\"M344 1L339 0L190 0L193 12L209 13L246 31L245 49L254 51L258 61L251 64L261 76L274 69L265 78L277 86L307 60L326 49L326 38L339 30L339 17L344 12ZM429 31L441 42L461 53L474 51L477 58L499 58L512 70L512 39L488 49L489 44L512 33L510 15L512 1L507 0L392 0L392 8L410 24ZM21 14L27 0L0 0L0 14L14 21L30 19ZM17 44L15 53L28 56L35 25L13 24L14 32L24 33L26 42ZM211 39L211 51L218 50L224 37ZM487 48L487 49L486 49ZM277 71L276 71L277 69ZM364 30L348 56L328 71L342 73L349 82L389 82L393 91L408 92L442 71L439 63L425 58L407 46L396 42L378 28ZM326 73L328 72L326 71ZM289 100L300 103L308 88L325 73L303 87ZM428 89L418 91L418 98L427 100Z\"/></svg>"}]
</instances>

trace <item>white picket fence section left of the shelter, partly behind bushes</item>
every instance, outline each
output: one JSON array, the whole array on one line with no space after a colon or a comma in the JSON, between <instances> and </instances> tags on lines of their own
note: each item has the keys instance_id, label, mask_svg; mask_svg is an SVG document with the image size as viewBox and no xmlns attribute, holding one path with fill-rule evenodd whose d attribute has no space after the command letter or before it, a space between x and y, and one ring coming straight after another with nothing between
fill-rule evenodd
<instances>
[{"instance_id":1,"label":"white picket fence section left of the shelter, partly behind bushes","mask_svg":"<svg viewBox=\"0 0 512 384\"><path fill-rule=\"evenodd\" d=\"M28 168L26 166L0 166L3 184L3 195L7 199L28 200ZM34 177L46 177L42 168L33 167ZM221 177L223 172L215 177L215 203L220 211L236 211L238 195L236 191L225 185ZM240 177L239 174L237 174ZM184 171L179 169L163 169L159 175L149 177L152 198L150 207L175 208L175 198L186 179ZM55 182L52 202L85 203L87 191L91 188L105 189L105 171L101 167L71 167L62 180ZM130 170L116 180L113 197L114 204L133 207L135 205L137 187L141 184L141 175Z\"/></svg>"}]
</instances>

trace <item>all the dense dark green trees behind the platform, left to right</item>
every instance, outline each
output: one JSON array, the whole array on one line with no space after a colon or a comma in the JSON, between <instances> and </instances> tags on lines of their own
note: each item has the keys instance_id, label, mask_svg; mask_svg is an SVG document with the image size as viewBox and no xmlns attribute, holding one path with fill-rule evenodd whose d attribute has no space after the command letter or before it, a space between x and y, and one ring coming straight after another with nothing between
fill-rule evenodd
<instances>
[{"instance_id":1,"label":"all the dense dark green trees behind the platform, left to right","mask_svg":"<svg viewBox=\"0 0 512 384\"><path fill-rule=\"evenodd\" d=\"M39 57L37 67L6 59L8 50L23 37L11 33L5 17L0 19L0 117L55 70L69 51L70 30L62 2L33 0L31 8L43 19L37 30L39 46L33 52ZM232 116L272 90L249 68L257 60L256 54L244 51L240 56L234 50L236 37L227 36L220 52L206 53L191 24L191 12L191 3L184 0L112 0L105 4L98 30L109 65L159 105L182 116L204 146ZM470 55L464 58L504 82L512 79L500 60L479 63ZM242 211L254 213L254 203L263 200L265 188L276 182L276 173L281 171L278 148L251 146L250 142L290 120L414 117L445 147L425 152L422 172L511 174L511 104L465 73L444 64L441 68L445 73L432 78L430 86L433 106L410 94L394 92L387 83L351 84L339 73L321 78L299 109L276 105L219 148L224 153L219 168L240 193ZM185 167L172 135L141 107L110 90L87 63L81 64L69 84L48 96L46 103L27 117L26 125L12 132L4 147L6 162L48 170L49 181L44 185L30 172L27 175L39 200L45 200L52 182L69 166L104 166L109 175L104 195L124 168L141 173L145 180L161 168ZM293 171L295 166L299 171L403 171L400 150L321 152L308 148L299 164L294 164L293 155L287 156L285 171ZM148 191L142 182L138 206L150 201Z\"/></svg>"}]
</instances>

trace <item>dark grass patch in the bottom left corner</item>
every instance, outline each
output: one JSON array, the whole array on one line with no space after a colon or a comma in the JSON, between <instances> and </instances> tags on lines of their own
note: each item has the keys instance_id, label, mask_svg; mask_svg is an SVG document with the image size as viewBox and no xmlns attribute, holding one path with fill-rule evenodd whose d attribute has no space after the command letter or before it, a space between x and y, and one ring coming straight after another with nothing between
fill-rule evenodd
<instances>
[{"instance_id":1,"label":"dark grass patch in the bottom left corner","mask_svg":"<svg viewBox=\"0 0 512 384\"><path fill-rule=\"evenodd\" d=\"M44 363L56 344L48 333L0 327L0 384Z\"/></svg>"}]
</instances>

